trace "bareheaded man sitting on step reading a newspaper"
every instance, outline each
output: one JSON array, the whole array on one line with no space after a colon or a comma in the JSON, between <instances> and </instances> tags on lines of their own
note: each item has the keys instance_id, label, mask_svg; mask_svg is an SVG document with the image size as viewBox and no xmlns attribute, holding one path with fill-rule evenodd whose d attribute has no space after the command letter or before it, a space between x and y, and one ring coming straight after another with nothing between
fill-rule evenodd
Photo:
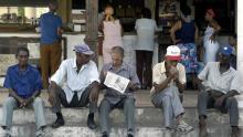
<instances>
[{"instance_id":1,"label":"bareheaded man sitting on step reading a newspaper","mask_svg":"<svg viewBox=\"0 0 243 137\"><path fill-rule=\"evenodd\" d=\"M125 122L127 126L128 137L135 135L135 97L134 91L140 87L138 76L128 64L123 62L124 49L120 46L114 46L112 49L112 63L105 64L101 72L102 86L106 88L105 97L99 105L99 122L103 137L109 135L109 113L114 108L124 109ZM115 73L116 75L130 80L125 93L107 87L104 85L104 81L107 76L107 72ZM118 117L119 118L119 117Z\"/></svg>"}]
</instances>

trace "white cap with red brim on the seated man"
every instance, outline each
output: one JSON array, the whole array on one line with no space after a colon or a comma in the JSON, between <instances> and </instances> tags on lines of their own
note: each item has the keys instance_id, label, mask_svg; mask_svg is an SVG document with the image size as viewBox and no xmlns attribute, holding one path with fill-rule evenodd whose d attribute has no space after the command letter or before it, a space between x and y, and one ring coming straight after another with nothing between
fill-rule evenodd
<instances>
[{"instance_id":1,"label":"white cap with red brim on the seated man","mask_svg":"<svg viewBox=\"0 0 243 137\"><path fill-rule=\"evenodd\" d=\"M176 61L181 60L180 49L177 45L168 46L167 53L166 53L166 59L167 60L176 60Z\"/></svg>"}]
</instances>

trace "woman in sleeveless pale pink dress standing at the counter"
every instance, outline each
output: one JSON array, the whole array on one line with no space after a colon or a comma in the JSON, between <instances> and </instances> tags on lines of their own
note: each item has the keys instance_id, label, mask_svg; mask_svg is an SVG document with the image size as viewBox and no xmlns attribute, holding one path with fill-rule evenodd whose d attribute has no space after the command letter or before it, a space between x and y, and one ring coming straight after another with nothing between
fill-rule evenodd
<instances>
[{"instance_id":1,"label":"woman in sleeveless pale pink dress standing at the counter","mask_svg":"<svg viewBox=\"0 0 243 137\"><path fill-rule=\"evenodd\" d=\"M107 6L105 9L105 18L103 20L101 31L104 33L103 41L103 60L104 64L110 63L110 50L114 46L123 48L122 33L123 29L119 23L119 20L113 17L114 9L112 6Z\"/></svg>"}]
</instances>

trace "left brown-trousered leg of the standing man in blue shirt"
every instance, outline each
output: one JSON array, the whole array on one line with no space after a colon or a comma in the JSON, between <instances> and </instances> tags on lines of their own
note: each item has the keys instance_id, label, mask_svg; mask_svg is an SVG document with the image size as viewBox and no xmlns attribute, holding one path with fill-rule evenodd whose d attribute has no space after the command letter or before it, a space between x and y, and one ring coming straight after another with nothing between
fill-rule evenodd
<instances>
[{"instance_id":1,"label":"left brown-trousered leg of the standing man in blue shirt","mask_svg":"<svg viewBox=\"0 0 243 137\"><path fill-rule=\"evenodd\" d=\"M47 88L49 86L49 67L50 67L50 53L49 48L50 45L41 45L40 53L41 53L41 75L43 81L43 87Z\"/></svg>"}]
</instances>

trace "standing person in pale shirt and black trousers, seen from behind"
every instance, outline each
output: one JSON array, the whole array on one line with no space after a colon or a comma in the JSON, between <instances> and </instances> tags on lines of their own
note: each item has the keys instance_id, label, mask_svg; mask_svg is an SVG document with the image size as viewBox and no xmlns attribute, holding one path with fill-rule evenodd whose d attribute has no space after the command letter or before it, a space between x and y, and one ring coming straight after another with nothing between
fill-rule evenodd
<instances>
[{"instance_id":1,"label":"standing person in pale shirt and black trousers, seen from behind","mask_svg":"<svg viewBox=\"0 0 243 137\"><path fill-rule=\"evenodd\" d=\"M158 30L156 21L151 19L149 9L142 9L141 18L136 20L135 30L137 31L137 74L141 83L141 88L146 89L151 87L155 31Z\"/></svg>"}]
</instances>

